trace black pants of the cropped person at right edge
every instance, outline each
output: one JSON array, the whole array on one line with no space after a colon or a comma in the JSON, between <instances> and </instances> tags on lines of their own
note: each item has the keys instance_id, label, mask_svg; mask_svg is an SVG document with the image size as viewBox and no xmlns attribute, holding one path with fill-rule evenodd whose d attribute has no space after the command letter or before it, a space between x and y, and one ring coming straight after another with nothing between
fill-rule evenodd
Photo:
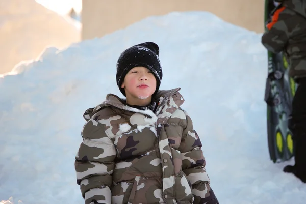
<instances>
[{"instance_id":1,"label":"black pants of the cropped person at right edge","mask_svg":"<svg viewBox=\"0 0 306 204\"><path fill-rule=\"evenodd\" d=\"M306 78L298 81L298 88L292 101L292 121L295 175L306 182Z\"/></svg>"}]
</instances>

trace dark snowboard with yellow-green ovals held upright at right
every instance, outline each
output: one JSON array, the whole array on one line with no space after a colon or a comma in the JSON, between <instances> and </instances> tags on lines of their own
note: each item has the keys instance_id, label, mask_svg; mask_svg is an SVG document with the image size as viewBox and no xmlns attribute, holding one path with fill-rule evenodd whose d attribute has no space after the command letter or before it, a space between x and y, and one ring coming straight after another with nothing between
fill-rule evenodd
<instances>
[{"instance_id":1,"label":"dark snowboard with yellow-green ovals held upright at right","mask_svg":"<svg viewBox=\"0 0 306 204\"><path fill-rule=\"evenodd\" d=\"M275 8L273 0L265 0L265 25ZM292 111L296 83L288 74L285 54L268 51L265 102L267 103L268 148L270 159L274 163L287 161L294 156L294 143L288 120Z\"/></svg>"}]
</instances>

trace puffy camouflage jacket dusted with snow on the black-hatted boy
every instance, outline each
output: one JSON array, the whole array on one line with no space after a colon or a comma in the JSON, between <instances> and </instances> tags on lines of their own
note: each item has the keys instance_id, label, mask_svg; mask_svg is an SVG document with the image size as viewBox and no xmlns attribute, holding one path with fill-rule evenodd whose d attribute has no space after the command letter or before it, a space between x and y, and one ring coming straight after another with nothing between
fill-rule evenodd
<instances>
[{"instance_id":1,"label":"puffy camouflage jacket dusted with snow on the black-hatted boy","mask_svg":"<svg viewBox=\"0 0 306 204\"><path fill-rule=\"evenodd\" d=\"M159 91L156 113L112 94L85 112L75 171L86 204L218 203L179 90Z\"/></svg>"}]
</instances>

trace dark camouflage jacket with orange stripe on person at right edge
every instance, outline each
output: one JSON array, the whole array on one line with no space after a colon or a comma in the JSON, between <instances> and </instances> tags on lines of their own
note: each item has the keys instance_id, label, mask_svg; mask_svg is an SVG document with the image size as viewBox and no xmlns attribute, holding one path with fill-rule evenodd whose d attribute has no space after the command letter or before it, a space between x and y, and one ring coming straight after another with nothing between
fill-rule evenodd
<instances>
[{"instance_id":1,"label":"dark camouflage jacket with orange stripe on person at right edge","mask_svg":"<svg viewBox=\"0 0 306 204\"><path fill-rule=\"evenodd\" d=\"M306 77L306 0L284 0L262 36L270 51L283 51L293 78Z\"/></svg>"}]
</instances>

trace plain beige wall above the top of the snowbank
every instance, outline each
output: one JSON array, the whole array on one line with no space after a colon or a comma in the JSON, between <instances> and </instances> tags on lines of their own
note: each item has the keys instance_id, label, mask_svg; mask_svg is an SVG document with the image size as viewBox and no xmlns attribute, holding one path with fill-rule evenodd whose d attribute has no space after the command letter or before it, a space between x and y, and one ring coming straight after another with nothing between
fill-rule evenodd
<instances>
[{"instance_id":1,"label":"plain beige wall above the top of the snowbank","mask_svg":"<svg viewBox=\"0 0 306 204\"><path fill-rule=\"evenodd\" d=\"M82 39L104 36L148 16L195 10L263 32L264 0L82 0L82 4Z\"/></svg>"}]
</instances>

